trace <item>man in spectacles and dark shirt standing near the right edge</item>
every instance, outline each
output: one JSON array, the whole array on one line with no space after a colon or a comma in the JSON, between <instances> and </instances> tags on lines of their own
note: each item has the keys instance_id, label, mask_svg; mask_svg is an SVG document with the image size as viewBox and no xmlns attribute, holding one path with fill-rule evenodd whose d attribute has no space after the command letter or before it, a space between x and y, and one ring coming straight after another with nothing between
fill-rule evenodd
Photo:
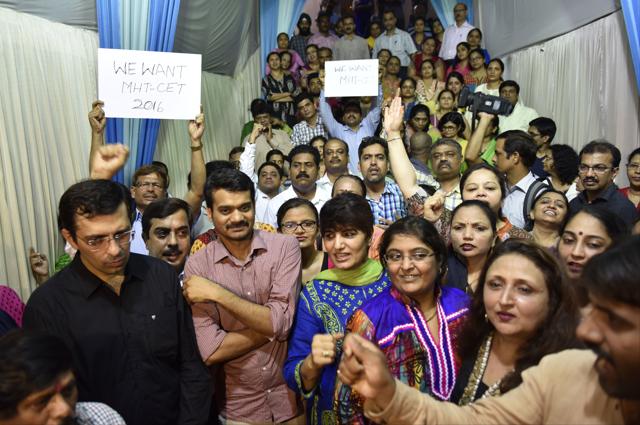
<instances>
[{"instance_id":1,"label":"man in spectacles and dark shirt standing near the right edge","mask_svg":"<svg viewBox=\"0 0 640 425\"><path fill-rule=\"evenodd\" d=\"M569 203L571 214L589 204L606 204L606 208L620 216L629 227L638 212L614 183L620 166L620 150L604 139L589 142L580 151L578 177L584 190Z\"/></svg>"}]
</instances>

